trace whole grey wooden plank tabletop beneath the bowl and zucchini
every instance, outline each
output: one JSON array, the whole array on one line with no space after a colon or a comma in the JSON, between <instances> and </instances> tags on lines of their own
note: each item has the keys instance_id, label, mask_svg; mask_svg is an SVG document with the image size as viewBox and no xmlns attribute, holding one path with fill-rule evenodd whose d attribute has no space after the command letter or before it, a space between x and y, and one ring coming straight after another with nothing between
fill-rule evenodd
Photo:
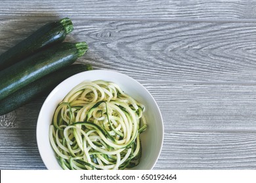
<instances>
[{"instance_id":1,"label":"whole grey wooden plank tabletop beneath the bowl and zucchini","mask_svg":"<svg viewBox=\"0 0 256 183\"><path fill-rule=\"evenodd\" d=\"M156 99L154 169L256 169L255 1L1 0L0 53L66 16L66 40L89 44L77 62L132 76ZM35 137L44 99L1 116L0 169L46 169Z\"/></svg>"}]
</instances>

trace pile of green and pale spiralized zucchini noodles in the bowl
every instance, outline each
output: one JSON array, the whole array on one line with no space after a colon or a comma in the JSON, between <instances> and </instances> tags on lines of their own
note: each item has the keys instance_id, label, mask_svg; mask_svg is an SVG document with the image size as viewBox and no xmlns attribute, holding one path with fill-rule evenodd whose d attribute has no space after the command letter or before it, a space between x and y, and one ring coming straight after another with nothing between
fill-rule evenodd
<instances>
[{"instance_id":1,"label":"pile of green and pale spiralized zucchini noodles in the bowl","mask_svg":"<svg viewBox=\"0 0 256 183\"><path fill-rule=\"evenodd\" d=\"M82 82L58 105L49 139L63 169L130 169L141 157L145 107L113 82Z\"/></svg>"}]
</instances>

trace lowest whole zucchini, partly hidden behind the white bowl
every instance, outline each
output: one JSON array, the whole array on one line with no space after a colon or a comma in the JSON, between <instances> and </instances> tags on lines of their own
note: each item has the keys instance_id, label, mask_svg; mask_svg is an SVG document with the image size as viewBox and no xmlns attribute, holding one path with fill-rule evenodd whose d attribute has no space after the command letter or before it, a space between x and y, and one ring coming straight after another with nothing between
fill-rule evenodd
<instances>
[{"instance_id":1,"label":"lowest whole zucchini, partly hidden behind the white bowl","mask_svg":"<svg viewBox=\"0 0 256 183\"><path fill-rule=\"evenodd\" d=\"M62 69L59 69L58 71L35 80L34 82L28 84L26 87L17 90L16 92L0 101L0 116L29 103L33 99L36 99L36 97L48 95L51 90L53 90L58 84L60 84L60 82L66 78L89 70L92 70L91 65L68 65Z\"/></svg>"}]
</instances>

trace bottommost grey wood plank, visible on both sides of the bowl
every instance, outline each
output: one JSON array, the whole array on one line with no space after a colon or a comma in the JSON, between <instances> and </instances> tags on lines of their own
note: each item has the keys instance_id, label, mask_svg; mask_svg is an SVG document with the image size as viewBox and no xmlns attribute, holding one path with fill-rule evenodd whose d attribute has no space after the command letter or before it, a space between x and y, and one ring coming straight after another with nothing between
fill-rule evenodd
<instances>
[{"instance_id":1,"label":"bottommost grey wood plank, visible on both sides of the bowl","mask_svg":"<svg viewBox=\"0 0 256 183\"><path fill-rule=\"evenodd\" d=\"M31 130L0 129L0 169L45 169ZM154 169L256 169L256 133L165 130Z\"/></svg>"}]
</instances>

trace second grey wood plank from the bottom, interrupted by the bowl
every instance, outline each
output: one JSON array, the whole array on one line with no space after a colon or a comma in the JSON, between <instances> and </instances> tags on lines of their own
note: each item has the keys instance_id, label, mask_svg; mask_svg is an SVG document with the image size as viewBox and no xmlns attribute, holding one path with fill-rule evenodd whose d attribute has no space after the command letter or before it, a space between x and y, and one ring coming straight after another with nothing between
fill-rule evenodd
<instances>
[{"instance_id":1,"label":"second grey wood plank from the bottom, interrupted by the bowl","mask_svg":"<svg viewBox=\"0 0 256 183\"><path fill-rule=\"evenodd\" d=\"M255 85L141 83L156 99L165 129L256 132ZM44 99L15 110L14 128L34 130Z\"/></svg>"}]
</instances>

